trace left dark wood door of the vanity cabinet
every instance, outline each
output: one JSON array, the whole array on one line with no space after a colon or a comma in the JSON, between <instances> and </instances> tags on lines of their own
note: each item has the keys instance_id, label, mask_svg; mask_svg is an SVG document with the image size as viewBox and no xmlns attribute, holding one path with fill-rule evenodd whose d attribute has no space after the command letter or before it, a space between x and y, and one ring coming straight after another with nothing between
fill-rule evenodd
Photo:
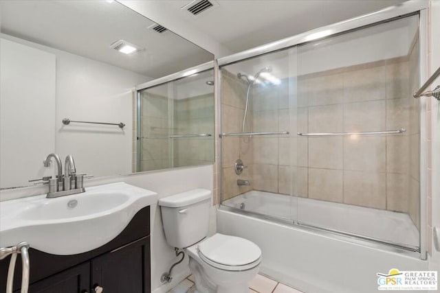
<instances>
[{"instance_id":1,"label":"left dark wood door of the vanity cabinet","mask_svg":"<svg viewBox=\"0 0 440 293\"><path fill-rule=\"evenodd\" d=\"M32 264L31 264L32 266ZM85 293L89 292L90 263L69 268L29 286L30 293ZM20 292L17 290L16 292Z\"/></svg>"}]
</instances>

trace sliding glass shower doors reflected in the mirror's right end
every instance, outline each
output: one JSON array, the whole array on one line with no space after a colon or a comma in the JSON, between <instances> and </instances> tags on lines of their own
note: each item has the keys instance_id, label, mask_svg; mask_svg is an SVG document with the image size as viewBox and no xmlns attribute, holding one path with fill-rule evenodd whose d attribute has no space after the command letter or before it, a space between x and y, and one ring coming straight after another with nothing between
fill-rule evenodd
<instances>
[{"instance_id":1,"label":"sliding glass shower doors reflected in the mirror's right end","mask_svg":"<svg viewBox=\"0 0 440 293\"><path fill-rule=\"evenodd\" d=\"M213 80L210 69L139 92L137 172L214 161Z\"/></svg>"}]
</instances>

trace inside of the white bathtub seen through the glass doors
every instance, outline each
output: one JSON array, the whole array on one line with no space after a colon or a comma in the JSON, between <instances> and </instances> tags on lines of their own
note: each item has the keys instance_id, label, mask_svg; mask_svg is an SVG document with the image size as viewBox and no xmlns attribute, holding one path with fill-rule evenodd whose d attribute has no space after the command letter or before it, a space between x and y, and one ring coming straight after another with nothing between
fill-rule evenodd
<instances>
[{"instance_id":1,"label":"inside of the white bathtub seen through the glass doors","mask_svg":"<svg viewBox=\"0 0 440 293\"><path fill-rule=\"evenodd\" d=\"M350 204L249 191L223 202L225 206L284 220L353 233L410 248L419 247L419 231L406 213Z\"/></svg>"}]
</instances>

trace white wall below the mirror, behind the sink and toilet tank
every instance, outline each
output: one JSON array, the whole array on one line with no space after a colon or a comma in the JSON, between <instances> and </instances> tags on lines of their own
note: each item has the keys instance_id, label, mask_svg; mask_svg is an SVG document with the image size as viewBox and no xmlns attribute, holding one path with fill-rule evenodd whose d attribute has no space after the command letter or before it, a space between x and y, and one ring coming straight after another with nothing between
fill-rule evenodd
<instances>
[{"instance_id":1,"label":"white wall below the mirror, behind the sink and toilet tank","mask_svg":"<svg viewBox=\"0 0 440 293\"><path fill-rule=\"evenodd\" d=\"M158 194L158 198L170 196L190 189L205 188L212 190L212 165L201 167L177 168L159 172L138 173L129 176L112 176L85 181L85 187L113 182L125 182L142 187ZM0 191L0 200L10 200L47 192L47 187L28 187ZM215 231L215 206L210 214L210 234ZM32 243L30 244L32 247ZM160 282L160 276L167 272L170 266L178 259L174 248L166 243L162 228L162 218L157 205L151 207L151 291L155 293L167 292L184 278L188 277L188 257L173 270L173 281L169 284ZM32 256L31 256L32 261Z\"/></svg>"}]
</instances>

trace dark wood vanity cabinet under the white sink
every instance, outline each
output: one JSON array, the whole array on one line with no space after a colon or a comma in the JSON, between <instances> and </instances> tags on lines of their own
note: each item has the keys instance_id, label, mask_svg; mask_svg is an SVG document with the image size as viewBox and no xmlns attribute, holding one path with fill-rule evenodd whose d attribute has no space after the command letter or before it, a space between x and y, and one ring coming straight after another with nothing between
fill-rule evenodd
<instances>
[{"instance_id":1,"label":"dark wood vanity cabinet under the white sink","mask_svg":"<svg viewBox=\"0 0 440 293\"><path fill-rule=\"evenodd\" d=\"M51 255L30 245L30 293L100 292L100 288L105 293L151 292L150 207L138 211L111 242L87 253ZM5 292L9 260L0 261L0 292ZM14 293L20 286L19 255Z\"/></svg>"}]
</instances>

